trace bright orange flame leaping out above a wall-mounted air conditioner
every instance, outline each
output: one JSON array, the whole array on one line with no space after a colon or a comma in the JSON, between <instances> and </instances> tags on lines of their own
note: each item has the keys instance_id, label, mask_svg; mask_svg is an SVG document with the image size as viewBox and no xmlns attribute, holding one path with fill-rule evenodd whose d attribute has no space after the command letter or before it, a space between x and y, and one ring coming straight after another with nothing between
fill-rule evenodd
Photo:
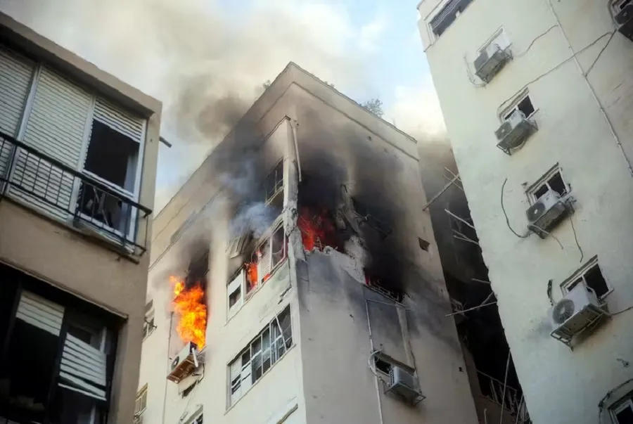
<instances>
[{"instance_id":1,"label":"bright orange flame leaping out above a wall-mounted air conditioner","mask_svg":"<svg viewBox=\"0 0 633 424\"><path fill-rule=\"evenodd\" d=\"M182 341L193 342L202 349L207 330L205 290L200 284L185 288L184 281L176 277L170 277L170 281L174 284L173 306L178 316L178 335Z\"/></svg>"}]
</instances>

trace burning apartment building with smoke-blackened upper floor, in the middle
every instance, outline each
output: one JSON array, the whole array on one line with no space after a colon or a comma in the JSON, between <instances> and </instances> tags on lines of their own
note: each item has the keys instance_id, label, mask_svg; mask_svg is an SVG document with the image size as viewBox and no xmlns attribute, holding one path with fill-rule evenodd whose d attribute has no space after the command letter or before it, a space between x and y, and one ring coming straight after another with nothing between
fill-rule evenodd
<instances>
[{"instance_id":1,"label":"burning apartment building with smoke-blackened upper floor, in the middle","mask_svg":"<svg viewBox=\"0 0 633 424\"><path fill-rule=\"evenodd\" d=\"M290 63L153 223L142 423L477 423L416 141Z\"/></svg>"}]
</instances>

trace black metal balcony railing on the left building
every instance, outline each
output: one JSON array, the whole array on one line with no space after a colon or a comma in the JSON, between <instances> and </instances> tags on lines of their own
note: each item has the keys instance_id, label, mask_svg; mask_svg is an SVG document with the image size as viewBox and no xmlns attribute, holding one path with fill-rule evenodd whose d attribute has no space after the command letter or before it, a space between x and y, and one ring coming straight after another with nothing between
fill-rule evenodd
<instances>
[{"instance_id":1,"label":"black metal balcony railing on the left building","mask_svg":"<svg viewBox=\"0 0 633 424\"><path fill-rule=\"evenodd\" d=\"M146 252L151 209L0 131L0 200L6 195L94 229L135 253ZM136 240L145 225L143 243Z\"/></svg>"}]
</instances>

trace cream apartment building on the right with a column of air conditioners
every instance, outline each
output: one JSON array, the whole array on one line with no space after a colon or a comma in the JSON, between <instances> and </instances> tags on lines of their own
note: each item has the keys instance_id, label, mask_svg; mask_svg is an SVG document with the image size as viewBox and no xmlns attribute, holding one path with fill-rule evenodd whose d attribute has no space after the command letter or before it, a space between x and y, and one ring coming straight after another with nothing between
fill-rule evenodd
<instances>
[{"instance_id":1,"label":"cream apartment building on the right with a column of air conditioners","mask_svg":"<svg viewBox=\"0 0 633 424\"><path fill-rule=\"evenodd\" d=\"M478 243L536 424L633 422L629 3L418 4Z\"/></svg>"}]
</instances>

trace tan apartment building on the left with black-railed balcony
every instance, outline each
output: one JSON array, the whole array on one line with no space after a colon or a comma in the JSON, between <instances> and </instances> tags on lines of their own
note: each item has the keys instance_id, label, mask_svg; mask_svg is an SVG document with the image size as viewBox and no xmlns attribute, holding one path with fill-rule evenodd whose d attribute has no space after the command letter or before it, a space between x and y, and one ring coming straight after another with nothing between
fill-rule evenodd
<instances>
[{"instance_id":1,"label":"tan apartment building on the left with black-railed balcony","mask_svg":"<svg viewBox=\"0 0 633 424\"><path fill-rule=\"evenodd\" d=\"M160 112L0 14L0 423L132 422Z\"/></svg>"}]
</instances>

